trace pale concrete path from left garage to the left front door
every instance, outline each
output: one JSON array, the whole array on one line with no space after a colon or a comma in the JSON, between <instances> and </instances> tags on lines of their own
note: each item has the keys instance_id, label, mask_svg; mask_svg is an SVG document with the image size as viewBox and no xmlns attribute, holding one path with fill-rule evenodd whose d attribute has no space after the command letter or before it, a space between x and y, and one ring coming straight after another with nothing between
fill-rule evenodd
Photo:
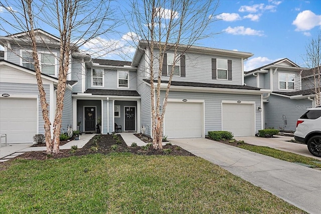
<instances>
[{"instance_id":1,"label":"pale concrete path from left garage to the left front door","mask_svg":"<svg viewBox=\"0 0 321 214\"><path fill-rule=\"evenodd\" d=\"M82 134L79 140L71 140L65 145L60 146L60 149L70 149L71 146L77 145L78 148L82 148L95 134ZM0 151L0 162L8 161L18 155L21 155L27 151L46 151L46 146L31 147L32 143L16 143L2 145Z\"/></svg>"}]
</instances>

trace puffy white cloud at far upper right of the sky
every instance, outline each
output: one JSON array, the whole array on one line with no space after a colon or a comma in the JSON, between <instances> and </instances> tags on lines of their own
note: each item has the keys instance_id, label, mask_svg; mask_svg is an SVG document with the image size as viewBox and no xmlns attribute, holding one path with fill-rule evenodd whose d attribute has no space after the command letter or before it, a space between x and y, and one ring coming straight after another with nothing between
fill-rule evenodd
<instances>
[{"instance_id":1,"label":"puffy white cloud at far upper right of the sky","mask_svg":"<svg viewBox=\"0 0 321 214\"><path fill-rule=\"evenodd\" d=\"M295 31L309 31L316 26L321 26L321 15L315 15L311 11L299 13L292 25L296 26Z\"/></svg>"}]
</instances>

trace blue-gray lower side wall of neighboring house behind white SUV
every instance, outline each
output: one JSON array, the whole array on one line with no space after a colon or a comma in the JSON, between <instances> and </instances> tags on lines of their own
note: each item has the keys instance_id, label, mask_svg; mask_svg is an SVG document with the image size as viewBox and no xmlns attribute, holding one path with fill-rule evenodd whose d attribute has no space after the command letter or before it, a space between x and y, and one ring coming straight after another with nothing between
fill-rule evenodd
<instances>
[{"instance_id":1,"label":"blue-gray lower side wall of neighboring house behind white SUV","mask_svg":"<svg viewBox=\"0 0 321 214\"><path fill-rule=\"evenodd\" d=\"M283 128L284 115L287 120L285 130L295 131L297 119L312 106L312 102L307 99L294 100L287 97L270 95L268 103L264 103L265 128Z\"/></svg>"}]
</instances>

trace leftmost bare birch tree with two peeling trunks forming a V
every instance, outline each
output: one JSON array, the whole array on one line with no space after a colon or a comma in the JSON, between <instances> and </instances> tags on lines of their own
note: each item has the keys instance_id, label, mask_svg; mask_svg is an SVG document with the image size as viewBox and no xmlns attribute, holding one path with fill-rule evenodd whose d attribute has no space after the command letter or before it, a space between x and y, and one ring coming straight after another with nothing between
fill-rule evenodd
<instances>
[{"instance_id":1,"label":"leftmost bare birch tree with two peeling trunks forming a V","mask_svg":"<svg viewBox=\"0 0 321 214\"><path fill-rule=\"evenodd\" d=\"M1 21L9 24L12 30L26 32L30 38L31 43L29 45L32 48L32 63L35 67L42 115L45 121L47 153L59 153L63 101L71 53L78 50L78 47L86 44L91 39L106 32L111 32L114 29L116 22L113 10L109 5L109 1L104 0L21 0L16 2L1 2L0 6L11 14L16 24L12 24L4 18L0 18ZM12 6L15 6L14 10ZM58 59L57 105L53 124L53 137L50 131L52 124L49 119L48 103L38 58L38 45L40 41L36 35L36 29L41 28L43 25L50 26L53 31L58 32L60 39L60 42L56 44L59 47L60 55ZM3 25L1 30L7 32ZM42 41L41 45L46 46L47 43L48 41ZM19 42L17 44L20 45ZM50 51L50 47L47 46L47 48ZM53 140L51 140L52 138Z\"/></svg>"}]
</instances>

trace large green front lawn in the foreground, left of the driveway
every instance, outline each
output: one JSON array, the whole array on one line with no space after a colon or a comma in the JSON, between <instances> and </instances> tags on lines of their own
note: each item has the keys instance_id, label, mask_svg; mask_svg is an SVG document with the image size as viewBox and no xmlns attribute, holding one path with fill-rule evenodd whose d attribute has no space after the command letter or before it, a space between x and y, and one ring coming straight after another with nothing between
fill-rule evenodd
<instances>
[{"instance_id":1,"label":"large green front lawn in the foreground, left of the driveway","mask_svg":"<svg viewBox=\"0 0 321 214\"><path fill-rule=\"evenodd\" d=\"M199 157L114 153L13 161L0 213L304 212Z\"/></svg>"}]
</instances>

